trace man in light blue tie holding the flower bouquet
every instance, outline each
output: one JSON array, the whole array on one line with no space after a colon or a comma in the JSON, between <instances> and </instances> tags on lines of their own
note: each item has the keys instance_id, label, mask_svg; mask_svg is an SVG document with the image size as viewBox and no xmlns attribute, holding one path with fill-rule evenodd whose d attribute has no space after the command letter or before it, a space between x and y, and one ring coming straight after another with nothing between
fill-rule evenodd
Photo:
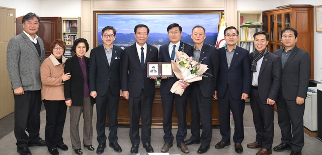
<instances>
[{"instance_id":1,"label":"man in light blue tie holding the flower bouquet","mask_svg":"<svg viewBox=\"0 0 322 155\"><path fill-rule=\"evenodd\" d=\"M180 41L182 35L182 27L173 23L167 28L170 43L160 46L159 60L160 62L169 62L171 60L176 60L176 50L185 52L188 56L193 55L192 46ZM161 78L160 93L163 108L163 130L165 132L164 140L165 144L161 148L162 152L167 152L170 147L173 146L174 136L171 132L172 130L172 112L174 101L176 102L176 110L178 116L178 131L176 135L177 146L180 147L181 151L184 153L189 153L189 149L184 143L185 137L187 135L187 100L188 94L190 93L190 88L187 88L187 84L182 83L183 89L185 90L182 96L170 92L172 85L179 79L174 77L164 76ZM187 88L187 89L186 89Z\"/></svg>"}]
</instances>

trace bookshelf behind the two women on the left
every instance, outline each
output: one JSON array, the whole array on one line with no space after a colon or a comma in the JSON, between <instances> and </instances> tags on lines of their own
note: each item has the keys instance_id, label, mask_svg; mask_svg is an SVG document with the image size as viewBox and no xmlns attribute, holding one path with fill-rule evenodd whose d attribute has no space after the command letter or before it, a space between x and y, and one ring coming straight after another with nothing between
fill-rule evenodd
<instances>
[{"instance_id":1,"label":"bookshelf behind the two women on the left","mask_svg":"<svg viewBox=\"0 0 322 155\"><path fill-rule=\"evenodd\" d=\"M64 57L72 57L70 52L73 42L81 37L81 17L61 18L61 40L65 42L66 50Z\"/></svg>"}]
</instances>

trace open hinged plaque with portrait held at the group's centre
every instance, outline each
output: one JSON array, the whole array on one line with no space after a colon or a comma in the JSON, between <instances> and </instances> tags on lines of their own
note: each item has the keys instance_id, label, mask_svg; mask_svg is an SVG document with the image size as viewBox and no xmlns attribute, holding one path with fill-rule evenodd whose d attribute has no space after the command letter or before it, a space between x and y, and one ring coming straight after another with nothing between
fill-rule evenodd
<instances>
[{"instance_id":1,"label":"open hinged plaque with portrait held at the group's centre","mask_svg":"<svg viewBox=\"0 0 322 155\"><path fill-rule=\"evenodd\" d=\"M146 77L174 76L171 62L147 62L146 73Z\"/></svg>"}]
</instances>

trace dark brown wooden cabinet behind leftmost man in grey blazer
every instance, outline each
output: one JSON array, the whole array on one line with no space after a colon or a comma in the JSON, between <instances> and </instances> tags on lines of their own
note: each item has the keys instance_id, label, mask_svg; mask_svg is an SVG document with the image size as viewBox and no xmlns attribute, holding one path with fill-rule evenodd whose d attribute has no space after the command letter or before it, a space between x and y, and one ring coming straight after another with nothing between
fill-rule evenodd
<instances>
[{"instance_id":1,"label":"dark brown wooden cabinet behind leftmost man in grey blazer","mask_svg":"<svg viewBox=\"0 0 322 155\"><path fill-rule=\"evenodd\" d=\"M17 18L17 33L23 32L22 16ZM44 42L46 57L51 54L49 46L55 39L61 39L61 17L40 17L39 30L36 33Z\"/></svg>"}]
</instances>

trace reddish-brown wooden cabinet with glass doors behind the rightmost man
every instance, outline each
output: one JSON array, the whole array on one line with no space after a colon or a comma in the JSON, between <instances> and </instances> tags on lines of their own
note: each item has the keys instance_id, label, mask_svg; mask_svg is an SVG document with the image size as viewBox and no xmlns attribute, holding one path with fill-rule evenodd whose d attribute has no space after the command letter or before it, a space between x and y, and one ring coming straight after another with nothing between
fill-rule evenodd
<instances>
[{"instance_id":1,"label":"reddish-brown wooden cabinet with glass doors behind the rightmost man","mask_svg":"<svg viewBox=\"0 0 322 155\"><path fill-rule=\"evenodd\" d=\"M281 30L294 28L297 35L296 46L307 51L311 58L311 76L314 75L313 58L313 6L288 6L263 11L264 31L270 35L268 48L270 52L283 47Z\"/></svg>"}]
</instances>

